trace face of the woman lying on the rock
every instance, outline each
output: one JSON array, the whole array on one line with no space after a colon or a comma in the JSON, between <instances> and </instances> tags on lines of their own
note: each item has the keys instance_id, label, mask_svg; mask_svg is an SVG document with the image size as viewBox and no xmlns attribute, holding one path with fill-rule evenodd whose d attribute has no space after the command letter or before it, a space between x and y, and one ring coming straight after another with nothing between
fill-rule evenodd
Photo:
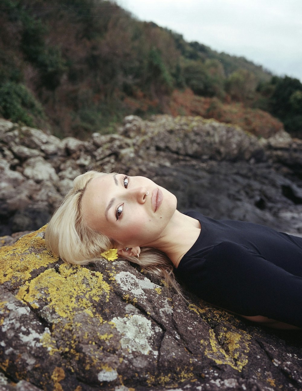
<instances>
[{"instance_id":1,"label":"face of the woman lying on the rock","mask_svg":"<svg viewBox=\"0 0 302 391\"><path fill-rule=\"evenodd\" d=\"M92 179L82 198L83 218L125 247L155 246L175 213L177 199L143 176Z\"/></svg>"}]
</instances>

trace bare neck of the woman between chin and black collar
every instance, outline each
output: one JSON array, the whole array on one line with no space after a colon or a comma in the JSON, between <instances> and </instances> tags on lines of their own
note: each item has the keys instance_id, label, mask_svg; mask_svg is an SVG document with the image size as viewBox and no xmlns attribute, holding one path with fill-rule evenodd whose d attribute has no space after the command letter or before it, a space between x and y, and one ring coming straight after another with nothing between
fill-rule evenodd
<instances>
[{"instance_id":1,"label":"bare neck of the woman between chin and black collar","mask_svg":"<svg viewBox=\"0 0 302 391\"><path fill-rule=\"evenodd\" d=\"M169 222L164 236L155 247L168 255L175 267L189 251L200 235L200 222L193 217L175 211Z\"/></svg>"}]
</instances>

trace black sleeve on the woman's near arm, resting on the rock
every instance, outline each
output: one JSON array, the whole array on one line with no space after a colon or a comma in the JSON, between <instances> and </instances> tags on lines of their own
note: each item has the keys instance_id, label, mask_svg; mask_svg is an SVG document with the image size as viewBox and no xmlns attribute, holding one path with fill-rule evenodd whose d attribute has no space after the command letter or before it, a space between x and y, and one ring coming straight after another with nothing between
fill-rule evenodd
<instances>
[{"instance_id":1,"label":"black sleeve on the woman's near arm, resting on the rock","mask_svg":"<svg viewBox=\"0 0 302 391\"><path fill-rule=\"evenodd\" d=\"M240 315L302 327L302 278L255 251L222 242L203 260L202 278L197 274L186 280L203 300Z\"/></svg>"}]
</instances>

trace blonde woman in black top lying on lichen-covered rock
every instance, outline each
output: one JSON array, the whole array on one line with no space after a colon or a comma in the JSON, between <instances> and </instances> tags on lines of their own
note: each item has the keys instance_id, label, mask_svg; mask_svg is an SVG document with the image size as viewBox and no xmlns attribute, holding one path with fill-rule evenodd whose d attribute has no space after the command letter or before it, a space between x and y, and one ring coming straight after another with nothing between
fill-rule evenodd
<instances>
[{"instance_id":1,"label":"blonde woman in black top lying on lichen-covered rock","mask_svg":"<svg viewBox=\"0 0 302 391\"><path fill-rule=\"evenodd\" d=\"M180 213L148 178L88 171L74 180L46 228L48 248L87 264L118 256L200 298L276 328L302 327L302 238L240 221Z\"/></svg>"}]
</instances>

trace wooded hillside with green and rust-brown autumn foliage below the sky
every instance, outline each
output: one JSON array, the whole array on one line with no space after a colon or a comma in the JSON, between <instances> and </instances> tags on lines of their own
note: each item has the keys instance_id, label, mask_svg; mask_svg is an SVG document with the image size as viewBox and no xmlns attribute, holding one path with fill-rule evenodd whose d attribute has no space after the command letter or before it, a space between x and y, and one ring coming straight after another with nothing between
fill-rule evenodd
<instances>
[{"instance_id":1,"label":"wooded hillside with green and rust-brown autumn foliage below the sky","mask_svg":"<svg viewBox=\"0 0 302 391\"><path fill-rule=\"evenodd\" d=\"M94 131L115 132L130 113L201 113L266 136L259 118L274 133L282 126L274 115L299 136L297 79L186 42L114 2L2 0L0 24L0 116L13 122L85 139Z\"/></svg>"}]
</instances>

